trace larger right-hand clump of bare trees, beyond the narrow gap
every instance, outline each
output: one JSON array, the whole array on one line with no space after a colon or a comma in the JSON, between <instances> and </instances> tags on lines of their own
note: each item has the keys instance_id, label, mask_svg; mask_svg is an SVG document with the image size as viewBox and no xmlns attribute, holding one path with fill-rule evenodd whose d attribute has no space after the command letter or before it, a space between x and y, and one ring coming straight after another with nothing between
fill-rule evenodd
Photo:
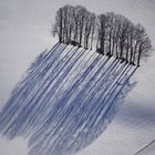
<instances>
[{"instance_id":1,"label":"larger right-hand clump of bare trees, beyond the narrow gap","mask_svg":"<svg viewBox=\"0 0 155 155\"><path fill-rule=\"evenodd\" d=\"M121 14L107 12L97 17L97 49L102 54L115 55L126 63L140 65L142 55L147 55L151 40L141 24Z\"/></svg>"}]
</instances>

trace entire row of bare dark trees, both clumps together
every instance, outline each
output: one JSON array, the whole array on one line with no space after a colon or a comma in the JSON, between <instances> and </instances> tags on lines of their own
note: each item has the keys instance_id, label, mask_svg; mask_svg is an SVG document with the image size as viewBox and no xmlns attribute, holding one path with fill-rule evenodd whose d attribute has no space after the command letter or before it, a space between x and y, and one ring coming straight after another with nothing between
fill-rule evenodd
<instances>
[{"instance_id":1,"label":"entire row of bare dark trees, both clumps together","mask_svg":"<svg viewBox=\"0 0 155 155\"><path fill-rule=\"evenodd\" d=\"M152 43L143 25L134 24L122 14L96 16L82 6L64 6L56 11L53 34L59 42L91 49L140 66Z\"/></svg>"}]
</instances>

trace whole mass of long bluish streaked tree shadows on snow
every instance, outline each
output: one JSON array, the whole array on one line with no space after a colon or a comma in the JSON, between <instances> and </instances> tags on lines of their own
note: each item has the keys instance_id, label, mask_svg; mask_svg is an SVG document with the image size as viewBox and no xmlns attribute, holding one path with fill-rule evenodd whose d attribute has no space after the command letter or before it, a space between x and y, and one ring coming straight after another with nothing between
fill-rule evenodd
<instances>
[{"instance_id":1,"label":"whole mass of long bluish streaked tree shadows on snow","mask_svg":"<svg viewBox=\"0 0 155 155\"><path fill-rule=\"evenodd\" d=\"M56 43L18 83L0 112L0 132L30 136L30 155L70 155L99 137L126 94L136 68Z\"/></svg>"}]
</instances>

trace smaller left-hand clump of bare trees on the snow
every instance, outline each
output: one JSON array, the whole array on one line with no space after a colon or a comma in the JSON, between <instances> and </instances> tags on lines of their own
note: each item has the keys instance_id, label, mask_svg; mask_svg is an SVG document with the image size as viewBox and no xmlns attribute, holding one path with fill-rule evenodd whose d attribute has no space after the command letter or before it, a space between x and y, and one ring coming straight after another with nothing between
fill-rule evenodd
<instances>
[{"instance_id":1,"label":"smaller left-hand clump of bare trees on the snow","mask_svg":"<svg viewBox=\"0 0 155 155\"><path fill-rule=\"evenodd\" d=\"M60 42L92 49L95 24L95 14L84 7L64 6L56 12L53 32Z\"/></svg>"}]
</instances>

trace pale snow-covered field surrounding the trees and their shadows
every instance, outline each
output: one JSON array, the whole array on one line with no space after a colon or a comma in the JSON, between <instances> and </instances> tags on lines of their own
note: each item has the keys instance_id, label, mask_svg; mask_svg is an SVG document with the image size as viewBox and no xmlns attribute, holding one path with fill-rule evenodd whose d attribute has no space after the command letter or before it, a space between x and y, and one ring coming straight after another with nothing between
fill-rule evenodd
<instances>
[{"instance_id":1,"label":"pale snow-covered field surrounding the trees and their shadows","mask_svg":"<svg viewBox=\"0 0 155 155\"><path fill-rule=\"evenodd\" d=\"M34 59L55 40L51 24L63 4L82 4L93 12L115 11L141 22L155 45L154 0L1 0L0 1L0 106ZM136 71L136 86L107 130L79 155L131 155L155 140L155 54ZM149 152L147 151L149 154ZM0 155L27 155L27 140L0 138Z\"/></svg>"}]
</instances>

